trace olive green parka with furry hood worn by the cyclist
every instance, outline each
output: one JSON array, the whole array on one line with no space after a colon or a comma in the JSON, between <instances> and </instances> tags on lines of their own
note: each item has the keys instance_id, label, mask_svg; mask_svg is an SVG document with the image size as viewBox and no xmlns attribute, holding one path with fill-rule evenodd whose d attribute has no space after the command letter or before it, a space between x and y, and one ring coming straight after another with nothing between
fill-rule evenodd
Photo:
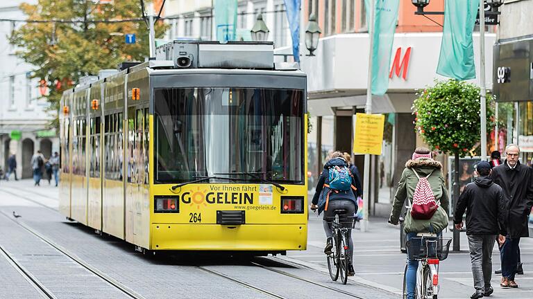
<instances>
[{"instance_id":1,"label":"olive green parka with furry hood worn by the cyclist","mask_svg":"<svg viewBox=\"0 0 533 299\"><path fill-rule=\"evenodd\" d=\"M398 183L398 190L394 195L394 203L391 211L391 222L398 224L398 218L405 204L405 199L409 199L412 203L414 189L418 184L418 178L414 174L413 170L416 170L418 176L428 176L428 182L431 185L431 189L435 196L435 201L448 212L450 199L448 198L448 192L446 191L446 185L444 185L444 179L442 177L442 164L439 161L434 161L432 158L417 158L416 160L409 160L405 163L405 169L403 170L402 177ZM430 224L430 220L415 220L411 223L407 221L404 224L404 230L406 233L415 232L423 233L421 228L426 228Z\"/></svg>"}]
</instances>

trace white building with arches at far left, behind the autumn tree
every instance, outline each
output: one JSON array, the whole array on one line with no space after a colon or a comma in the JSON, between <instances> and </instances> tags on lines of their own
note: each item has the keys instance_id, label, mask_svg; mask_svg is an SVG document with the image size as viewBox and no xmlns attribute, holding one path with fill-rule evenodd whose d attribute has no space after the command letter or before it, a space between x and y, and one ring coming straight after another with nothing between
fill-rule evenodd
<instances>
[{"instance_id":1,"label":"white building with arches at far left, behind the autumn tree","mask_svg":"<svg viewBox=\"0 0 533 299\"><path fill-rule=\"evenodd\" d=\"M0 3L1 19L24 19L19 5L22 2ZM41 149L48 158L58 151L56 132L49 129L53 116L46 112L49 106L45 98L46 89L39 87L39 80L31 78L35 66L28 65L15 56L17 48L9 43L9 36L15 24L0 22L0 167L6 170L10 154L17 158L17 176L32 176L31 156Z\"/></svg>"}]
</instances>

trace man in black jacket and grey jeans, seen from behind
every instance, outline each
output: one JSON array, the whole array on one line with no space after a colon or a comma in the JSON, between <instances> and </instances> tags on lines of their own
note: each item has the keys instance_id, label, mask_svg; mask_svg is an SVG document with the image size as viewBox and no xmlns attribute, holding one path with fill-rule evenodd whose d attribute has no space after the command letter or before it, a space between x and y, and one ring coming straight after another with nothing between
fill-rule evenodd
<instances>
[{"instance_id":1,"label":"man in black jacket and grey jeans, seen from behind","mask_svg":"<svg viewBox=\"0 0 533 299\"><path fill-rule=\"evenodd\" d=\"M475 289L470 298L473 299L491 296L494 292L491 287L492 249L497 238L498 244L503 244L507 235L507 205L502 188L489 176L491 164L478 162L476 172L479 176L466 185L459 196L453 219L455 228L461 230L466 210L466 236Z\"/></svg>"}]
</instances>

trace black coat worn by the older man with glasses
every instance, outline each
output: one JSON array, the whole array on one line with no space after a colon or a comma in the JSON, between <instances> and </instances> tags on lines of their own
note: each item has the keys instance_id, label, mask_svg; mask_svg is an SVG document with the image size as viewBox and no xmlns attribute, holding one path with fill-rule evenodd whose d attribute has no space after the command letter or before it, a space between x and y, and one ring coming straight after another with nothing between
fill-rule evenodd
<instances>
[{"instance_id":1,"label":"black coat worn by the older man with glasses","mask_svg":"<svg viewBox=\"0 0 533 299\"><path fill-rule=\"evenodd\" d=\"M514 169L502 165L492 169L492 179L502 187L503 197L507 202L507 235L509 237L529 237L527 218L533 206L532 169L520 162Z\"/></svg>"}]
</instances>

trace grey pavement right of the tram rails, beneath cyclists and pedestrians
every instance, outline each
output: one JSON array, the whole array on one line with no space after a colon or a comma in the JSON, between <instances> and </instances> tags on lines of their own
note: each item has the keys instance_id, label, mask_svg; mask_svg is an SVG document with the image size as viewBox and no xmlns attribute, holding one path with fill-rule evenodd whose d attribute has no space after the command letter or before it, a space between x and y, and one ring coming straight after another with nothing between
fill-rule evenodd
<instances>
[{"instance_id":1,"label":"grey pavement right of the tram rails, beneath cyclists and pedestrians","mask_svg":"<svg viewBox=\"0 0 533 299\"><path fill-rule=\"evenodd\" d=\"M323 246L322 218L311 212L307 251L294 251L287 254L287 260L316 269L327 271ZM451 237L447 232L444 236ZM398 226L387 224L387 219L371 218L370 232L362 233L357 228L353 233L354 267L353 281L398 294L400 298L405 269L405 253L400 253L400 230ZM522 238L521 257L525 275L516 275L518 289L500 289L500 275L493 274L492 285L495 289L491 298L533 298L533 238ZM461 253L450 253L441 263L439 298L469 298L474 292L470 255L466 234L461 234ZM493 249L493 269L500 268L498 247Z\"/></svg>"}]
</instances>

